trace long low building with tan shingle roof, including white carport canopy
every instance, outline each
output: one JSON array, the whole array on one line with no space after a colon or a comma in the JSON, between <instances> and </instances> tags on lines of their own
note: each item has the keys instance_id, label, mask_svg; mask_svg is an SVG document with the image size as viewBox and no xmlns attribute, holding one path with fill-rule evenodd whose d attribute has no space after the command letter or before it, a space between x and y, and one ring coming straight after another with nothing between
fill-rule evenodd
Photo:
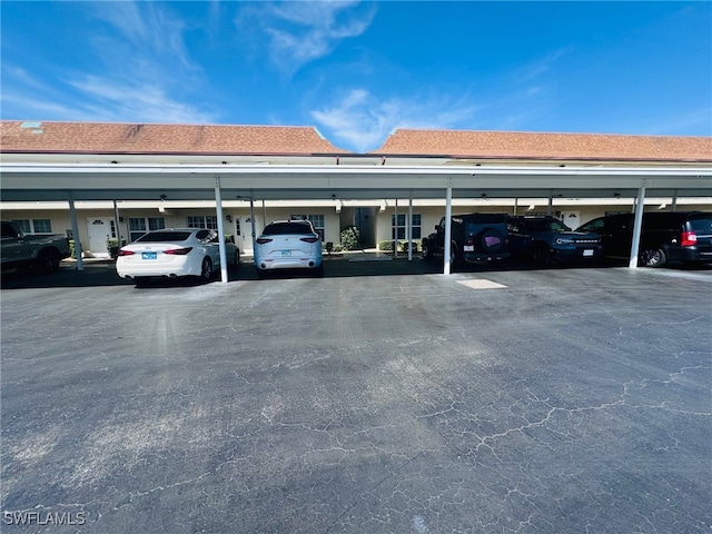
<instances>
[{"instance_id":1,"label":"long low building with tan shingle roof, including white carport canopy","mask_svg":"<svg viewBox=\"0 0 712 534\"><path fill-rule=\"evenodd\" d=\"M76 226L93 255L117 234L217 228L219 212L244 249L253 228L290 217L333 243L356 225L374 247L408 228L417 241L448 202L576 227L630 211L641 189L646 209L712 198L710 137L397 129L356 154L313 127L1 121L0 155L3 218L28 231Z\"/></svg>"}]
</instances>

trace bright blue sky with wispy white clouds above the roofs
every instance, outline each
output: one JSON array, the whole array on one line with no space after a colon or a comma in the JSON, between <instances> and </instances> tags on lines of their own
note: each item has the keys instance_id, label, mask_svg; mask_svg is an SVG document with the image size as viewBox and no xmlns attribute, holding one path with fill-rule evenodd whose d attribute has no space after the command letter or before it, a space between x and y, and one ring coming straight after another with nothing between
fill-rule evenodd
<instances>
[{"instance_id":1,"label":"bright blue sky with wispy white clouds above the roofs","mask_svg":"<svg viewBox=\"0 0 712 534\"><path fill-rule=\"evenodd\" d=\"M711 2L0 3L0 116L712 135Z\"/></svg>"}]
</instances>

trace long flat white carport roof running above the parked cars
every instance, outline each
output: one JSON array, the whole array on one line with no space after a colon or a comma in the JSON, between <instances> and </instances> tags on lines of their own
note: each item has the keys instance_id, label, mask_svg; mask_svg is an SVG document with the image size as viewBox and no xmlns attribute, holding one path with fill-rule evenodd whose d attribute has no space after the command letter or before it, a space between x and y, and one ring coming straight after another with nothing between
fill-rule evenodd
<instances>
[{"instance_id":1,"label":"long flat white carport roof running above the parked cars","mask_svg":"<svg viewBox=\"0 0 712 534\"><path fill-rule=\"evenodd\" d=\"M3 201L712 196L712 165L0 164ZM384 162L385 164L385 162Z\"/></svg>"}]
</instances>

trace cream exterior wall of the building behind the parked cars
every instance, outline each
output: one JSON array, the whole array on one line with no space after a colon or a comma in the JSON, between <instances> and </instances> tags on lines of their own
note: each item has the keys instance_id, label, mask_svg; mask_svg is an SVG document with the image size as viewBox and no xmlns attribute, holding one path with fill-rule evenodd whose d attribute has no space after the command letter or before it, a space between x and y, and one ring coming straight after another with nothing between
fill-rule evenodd
<instances>
[{"instance_id":1,"label":"cream exterior wall of the building behind the parked cars","mask_svg":"<svg viewBox=\"0 0 712 534\"><path fill-rule=\"evenodd\" d=\"M86 202L82 205L77 202L77 222L79 227L79 239L82 244L82 249L87 251L89 249L89 233L90 224L95 219L109 219L113 220L115 212L111 202ZM192 202L197 206L189 207L185 202L185 206L175 207L167 206L164 212L159 211L158 205L155 202L150 206L119 206L119 216L121 221L119 222L119 229L121 237L127 239L129 235L128 221L132 217L164 217L166 227L185 227L187 226L187 218L189 216L215 216L215 202L209 205L205 202L200 206L200 202ZM520 199L516 206L517 215L536 214L545 215L548 211L548 201L546 199ZM649 198L645 200L645 210L652 211L661 209L672 210L671 199ZM532 207L533 206L533 207ZM50 219L51 231L53 234L70 235L71 233L71 218L69 214L69 207L62 205L62 202L21 202L13 205L12 202L0 204L2 209L3 219ZM368 202L367 208L375 218L375 245L379 241L392 239L392 217L394 215L394 201L388 200L382 205L377 202ZM287 219L296 215L320 215L324 217L324 240L338 244L340 241L340 230L350 224L353 224L355 207L345 205L337 211L333 204L319 204L319 202L269 202L263 210L260 202L255 204L255 219L256 219L256 235L265 226L265 220ZM467 200L467 199L454 199L453 200L453 214L467 214L467 212L507 212L514 214L515 206L514 200ZM585 201L570 201L567 199L555 199L553 204L553 215L561 212L578 212L578 222L585 224L589 220L601 217L611 212L632 211L632 199L587 199ZM700 210L712 211L712 198L691 198L691 199L678 199L678 210ZM406 215L408 212L408 200L399 200L397 212L399 215ZM414 200L413 214L421 216L421 237L427 236L433 231L435 225L441 220L441 217L445 215L445 200ZM235 235L237 224L240 222L240 231L243 236L241 247L244 251L251 251L251 239L248 227L245 222L249 220L250 210L249 205L246 202L239 202L239 205L227 207L224 206L222 220L224 231L228 235ZM228 220L228 216L231 220ZM348 224L347 224L348 222ZM566 222L566 220L564 220ZM103 250L106 251L106 250ZM102 253L100 250L99 253Z\"/></svg>"}]
</instances>

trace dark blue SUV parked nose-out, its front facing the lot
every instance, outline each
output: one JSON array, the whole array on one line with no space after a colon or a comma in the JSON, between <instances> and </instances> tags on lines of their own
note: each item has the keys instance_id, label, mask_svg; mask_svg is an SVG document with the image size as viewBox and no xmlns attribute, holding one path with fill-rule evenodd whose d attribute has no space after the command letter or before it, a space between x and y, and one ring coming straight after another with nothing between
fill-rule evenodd
<instances>
[{"instance_id":1,"label":"dark blue SUV parked nose-out, its front facing the lot","mask_svg":"<svg viewBox=\"0 0 712 534\"><path fill-rule=\"evenodd\" d=\"M601 259L601 236L574 231L555 217L510 217L510 250L537 265L594 263Z\"/></svg>"}]
</instances>

